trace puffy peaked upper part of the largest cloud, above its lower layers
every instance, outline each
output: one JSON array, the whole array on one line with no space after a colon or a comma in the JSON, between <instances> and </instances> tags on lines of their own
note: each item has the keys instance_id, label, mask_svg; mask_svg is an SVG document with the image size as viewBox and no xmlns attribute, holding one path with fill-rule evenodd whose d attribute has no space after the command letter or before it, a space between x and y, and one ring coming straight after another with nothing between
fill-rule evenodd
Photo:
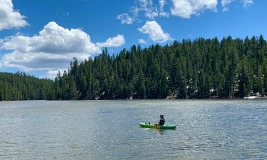
<instances>
[{"instance_id":1,"label":"puffy peaked upper part of the largest cloud, above its lower layers","mask_svg":"<svg viewBox=\"0 0 267 160\"><path fill-rule=\"evenodd\" d=\"M79 29L64 29L55 22L49 22L39 35L19 35L2 44L3 49L19 52L44 53L97 53L99 48L90 41L90 36Z\"/></svg>"}]
</instances>

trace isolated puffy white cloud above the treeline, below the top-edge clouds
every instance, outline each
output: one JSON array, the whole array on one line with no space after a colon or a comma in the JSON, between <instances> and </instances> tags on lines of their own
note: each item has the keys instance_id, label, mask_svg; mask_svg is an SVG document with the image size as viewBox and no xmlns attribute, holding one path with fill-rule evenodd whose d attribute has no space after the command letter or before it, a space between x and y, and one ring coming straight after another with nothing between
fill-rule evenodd
<instances>
[{"instance_id":1,"label":"isolated puffy white cloud above the treeline, below the top-edge clouds","mask_svg":"<svg viewBox=\"0 0 267 160\"><path fill-rule=\"evenodd\" d=\"M148 34L149 38L154 42L163 43L172 39L170 34L164 32L156 21L148 21L142 28L138 28L137 30Z\"/></svg>"}]
</instances>

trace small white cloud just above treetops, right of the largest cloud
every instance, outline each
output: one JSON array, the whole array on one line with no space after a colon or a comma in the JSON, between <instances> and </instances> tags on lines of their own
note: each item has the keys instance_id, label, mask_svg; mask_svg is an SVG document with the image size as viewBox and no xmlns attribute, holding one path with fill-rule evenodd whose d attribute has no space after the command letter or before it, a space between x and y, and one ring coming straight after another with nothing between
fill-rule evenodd
<instances>
[{"instance_id":1,"label":"small white cloud just above treetops, right of the largest cloud","mask_svg":"<svg viewBox=\"0 0 267 160\"><path fill-rule=\"evenodd\" d=\"M118 34L115 37L110 37L105 42L96 43L96 45L99 47L119 47L123 44L125 44L125 39L124 36L121 34Z\"/></svg>"}]
</instances>

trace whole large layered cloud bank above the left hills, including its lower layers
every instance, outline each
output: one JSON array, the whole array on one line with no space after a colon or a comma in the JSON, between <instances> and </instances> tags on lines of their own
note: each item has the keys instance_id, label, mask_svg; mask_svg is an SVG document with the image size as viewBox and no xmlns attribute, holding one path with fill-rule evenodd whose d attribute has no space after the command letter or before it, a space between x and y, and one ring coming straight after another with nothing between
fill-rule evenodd
<instances>
[{"instance_id":1,"label":"whole large layered cloud bank above the left hills, including its lower layers","mask_svg":"<svg viewBox=\"0 0 267 160\"><path fill-rule=\"evenodd\" d=\"M117 38L109 39L107 42ZM101 46L104 47L105 44ZM87 59L92 54L100 53L101 46L91 42L90 36L80 29L69 30L55 22L49 22L38 35L5 38L0 49L13 52L4 54L0 64L3 67L16 67L24 71L64 69L68 68L73 57ZM119 44L116 43L115 46Z\"/></svg>"}]
</instances>

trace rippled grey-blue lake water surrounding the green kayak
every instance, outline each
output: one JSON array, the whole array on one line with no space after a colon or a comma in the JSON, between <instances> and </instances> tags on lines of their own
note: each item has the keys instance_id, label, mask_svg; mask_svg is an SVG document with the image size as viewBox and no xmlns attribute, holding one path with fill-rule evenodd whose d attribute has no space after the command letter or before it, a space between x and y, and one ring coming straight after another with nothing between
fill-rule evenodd
<instances>
[{"instance_id":1,"label":"rippled grey-blue lake water surrounding the green kayak","mask_svg":"<svg viewBox=\"0 0 267 160\"><path fill-rule=\"evenodd\" d=\"M267 159L267 100L0 102L0 159L159 158Z\"/></svg>"}]
</instances>

